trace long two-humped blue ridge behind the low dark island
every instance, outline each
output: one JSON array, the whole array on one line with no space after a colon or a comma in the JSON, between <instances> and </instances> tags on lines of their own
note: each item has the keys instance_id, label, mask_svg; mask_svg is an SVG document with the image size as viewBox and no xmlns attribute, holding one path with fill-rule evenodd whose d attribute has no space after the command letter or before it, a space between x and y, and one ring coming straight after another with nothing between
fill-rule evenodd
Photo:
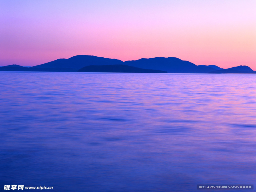
<instances>
[{"instance_id":1,"label":"long two-humped blue ridge behind the low dark island","mask_svg":"<svg viewBox=\"0 0 256 192\"><path fill-rule=\"evenodd\" d=\"M169 73L208 73L215 71L217 66L197 66L189 61L183 61L175 57L155 57L139 59L135 61L121 61L90 55L77 55L69 59L57 59L42 65L25 69L11 69L15 71L67 71L76 72L79 69L90 65L128 65L141 69L152 69L167 71ZM0 69L1 70L1 69ZM8 69L5 69L8 70ZM9 69L10 70L10 69Z\"/></svg>"}]
</instances>

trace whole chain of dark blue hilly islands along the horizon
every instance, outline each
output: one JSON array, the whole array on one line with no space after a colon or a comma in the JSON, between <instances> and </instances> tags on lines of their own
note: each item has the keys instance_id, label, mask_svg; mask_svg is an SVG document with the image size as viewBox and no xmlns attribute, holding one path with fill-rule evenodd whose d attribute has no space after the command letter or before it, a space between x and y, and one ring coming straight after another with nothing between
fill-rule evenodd
<instances>
[{"instance_id":1,"label":"whole chain of dark blue hilly islands along the horizon","mask_svg":"<svg viewBox=\"0 0 256 192\"><path fill-rule=\"evenodd\" d=\"M222 69L216 65L195 65L176 57L155 57L121 61L91 55L57 59L33 67L7 65L0 71L121 72L121 73L256 73L248 66Z\"/></svg>"}]
</instances>

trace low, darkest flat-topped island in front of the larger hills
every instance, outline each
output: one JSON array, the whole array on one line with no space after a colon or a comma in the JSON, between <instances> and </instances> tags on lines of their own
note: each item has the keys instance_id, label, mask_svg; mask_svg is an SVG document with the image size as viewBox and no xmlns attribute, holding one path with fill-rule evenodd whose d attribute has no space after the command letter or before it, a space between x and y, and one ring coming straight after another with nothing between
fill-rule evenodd
<instances>
[{"instance_id":1,"label":"low, darkest flat-topped island in front of the larger hills","mask_svg":"<svg viewBox=\"0 0 256 192\"><path fill-rule=\"evenodd\" d=\"M90 65L79 69L78 72L107 72L107 73L167 73L166 71L141 69L127 65Z\"/></svg>"}]
</instances>

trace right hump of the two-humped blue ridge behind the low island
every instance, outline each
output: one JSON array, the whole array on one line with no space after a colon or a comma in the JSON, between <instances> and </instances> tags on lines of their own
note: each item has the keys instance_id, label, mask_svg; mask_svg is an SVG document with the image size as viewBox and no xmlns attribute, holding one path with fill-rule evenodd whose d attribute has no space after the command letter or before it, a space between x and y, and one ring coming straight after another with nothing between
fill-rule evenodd
<instances>
[{"instance_id":1,"label":"right hump of the two-humped blue ridge behind the low island","mask_svg":"<svg viewBox=\"0 0 256 192\"><path fill-rule=\"evenodd\" d=\"M176 57L139 59L135 61L125 61L124 64L144 69L163 70L168 73L208 73L216 70L209 66L197 66L194 63L183 61Z\"/></svg>"}]
</instances>

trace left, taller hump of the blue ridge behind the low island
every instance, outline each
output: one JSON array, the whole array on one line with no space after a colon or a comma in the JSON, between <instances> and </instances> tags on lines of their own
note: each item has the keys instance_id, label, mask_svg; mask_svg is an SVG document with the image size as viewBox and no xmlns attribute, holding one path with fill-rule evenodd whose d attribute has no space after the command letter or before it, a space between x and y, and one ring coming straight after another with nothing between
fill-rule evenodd
<instances>
[{"instance_id":1,"label":"left, taller hump of the blue ridge behind the low island","mask_svg":"<svg viewBox=\"0 0 256 192\"><path fill-rule=\"evenodd\" d=\"M46 68L49 71L58 69L59 71L77 71L88 65L118 65L123 64L123 61L118 59L108 59L104 57L96 57L91 55L77 55L69 59L57 59L42 65L31 67Z\"/></svg>"}]
</instances>

